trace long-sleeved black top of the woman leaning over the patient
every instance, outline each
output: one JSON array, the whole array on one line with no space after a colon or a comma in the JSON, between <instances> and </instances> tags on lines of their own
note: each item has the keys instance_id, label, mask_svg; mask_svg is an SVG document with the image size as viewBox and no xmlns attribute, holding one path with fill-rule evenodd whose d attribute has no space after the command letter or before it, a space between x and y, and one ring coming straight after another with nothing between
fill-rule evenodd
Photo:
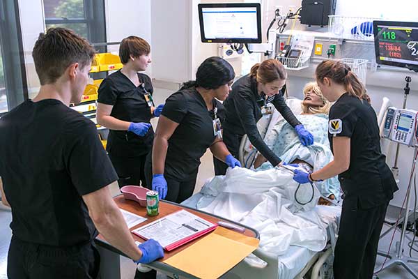
<instances>
[{"instance_id":1,"label":"long-sleeved black top of the woman leaning over the patient","mask_svg":"<svg viewBox=\"0 0 418 279\"><path fill-rule=\"evenodd\" d=\"M300 122L286 105L281 93L272 96L264 102L265 95L260 96L257 90L257 82L251 75L245 75L232 85L229 97L224 101L226 119L224 121L224 142L230 148L237 143L228 142L233 134L242 137L247 134L251 144L270 162L278 165L281 160L268 148L267 144L258 133L257 121L261 119L261 107L265 103L272 103L274 107L283 115L284 119L295 127ZM238 143L239 146L240 143ZM236 151L234 153L237 153Z\"/></svg>"}]
</instances>

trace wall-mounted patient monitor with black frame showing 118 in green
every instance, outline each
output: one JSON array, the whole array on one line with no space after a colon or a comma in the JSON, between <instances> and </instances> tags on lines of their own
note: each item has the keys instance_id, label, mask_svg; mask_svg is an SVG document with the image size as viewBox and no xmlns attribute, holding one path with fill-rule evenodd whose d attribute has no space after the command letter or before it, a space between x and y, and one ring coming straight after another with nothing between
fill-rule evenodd
<instances>
[{"instance_id":1,"label":"wall-mounted patient monitor with black frame showing 118 in green","mask_svg":"<svg viewBox=\"0 0 418 279\"><path fill-rule=\"evenodd\" d=\"M373 21L376 62L418 68L418 22Z\"/></svg>"}]
</instances>

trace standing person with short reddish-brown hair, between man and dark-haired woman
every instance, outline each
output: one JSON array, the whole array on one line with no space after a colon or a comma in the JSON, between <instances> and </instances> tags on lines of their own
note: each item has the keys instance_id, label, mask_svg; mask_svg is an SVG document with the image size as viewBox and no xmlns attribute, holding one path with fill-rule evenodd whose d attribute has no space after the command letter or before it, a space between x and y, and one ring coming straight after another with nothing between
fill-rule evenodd
<instances>
[{"instance_id":1,"label":"standing person with short reddish-brown hair, between man and dark-haired woman","mask_svg":"<svg viewBox=\"0 0 418 279\"><path fill-rule=\"evenodd\" d=\"M160 116L164 105L154 107L150 77L138 73L151 62L146 40L123 39L119 56L123 68L100 84L97 119L110 130L106 149L118 173L119 187L145 186L144 164L154 140L150 119Z\"/></svg>"}]
</instances>

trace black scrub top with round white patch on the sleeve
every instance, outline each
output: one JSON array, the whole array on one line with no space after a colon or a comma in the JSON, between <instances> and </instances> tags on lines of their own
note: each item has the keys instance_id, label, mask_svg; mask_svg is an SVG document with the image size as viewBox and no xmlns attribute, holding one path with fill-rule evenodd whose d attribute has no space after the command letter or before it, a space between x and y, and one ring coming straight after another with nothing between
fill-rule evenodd
<instances>
[{"instance_id":1,"label":"black scrub top with round white patch on the sleeve","mask_svg":"<svg viewBox=\"0 0 418 279\"><path fill-rule=\"evenodd\" d=\"M350 137L350 167L339 174L344 200L362 209L389 202L398 187L380 150L378 121L371 105L343 94L331 107L328 137L331 149L334 137Z\"/></svg>"}]
</instances>

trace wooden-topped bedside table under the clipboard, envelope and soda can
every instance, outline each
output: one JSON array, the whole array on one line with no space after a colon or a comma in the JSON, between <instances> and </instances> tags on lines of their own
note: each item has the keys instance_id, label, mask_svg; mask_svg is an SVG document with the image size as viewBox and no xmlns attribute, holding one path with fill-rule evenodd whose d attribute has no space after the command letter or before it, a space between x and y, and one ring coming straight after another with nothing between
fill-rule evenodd
<instances>
[{"instance_id":1,"label":"wooden-topped bedside table under the clipboard, envelope and soda can","mask_svg":"<svg viewBox=\"0 0 418 279\"><path fill-rule=\"evenodd\" d=\"M246 227L245 225L235 223L231 220L228 220L219 216L215 216L210 213L203 212L203 211L199 211L197 209L191 209L187 206L183 206L183 205L176 204L173 202L161 200L160 201L160 214L158 216L147 216L145 207L139 206L137 202L124 199L123 195L118 195L117 197L114 198L114 201L119 206L119 208L147 218L147 220L144 221L143 223L140 223L139 225L136 225L134 227L130 227L131 231L133 229L136 229L137 227L142 227L148 223L151 223L171 213L174 213L181 209L185 209L212 223L217 223L219 220L224 220L229 223L240 225L241 227L245 227L245 232L243 234L245 234L246 236L254 237L256 239L259 239L260 237L256 229L252 229L251 227ZM144 239L141 239L139 236L136 236L134 234L132 234L132 236L134 236L135 241L144 242ZM169 257L172 257L173 255L176 255L178 252L193 245L193 243L195 243L199 239L202 239L203 237L206 237L206 236L201 236L198 239L195 239L194 241L190 241L189 243L186 243L185 245L180 246L179 248L176 248L170 252L164 251L163 259L158 259L157 261L148 264L148 266L150 266L153 269L157 269L163 272L166 271L164 273L168 272L168 273L177 274L178 276L185 277L185 278L195 278L194 276L191 276L190 274L180 271L178 269L175 269L172 266L169 266L168 264L165 264L162 261L164 259L168 259ZM123 252L121 252L120 250L111 246L109 243L107 243L107 241L105 241L101 235L97 237L95 242L98 244L98 248L99 248L100 255L101 255L100 272L102 273L102 279L121 278L120 256L122 255L126 257L126 255L123 254Z\"/></svg>"}]
</instances>

